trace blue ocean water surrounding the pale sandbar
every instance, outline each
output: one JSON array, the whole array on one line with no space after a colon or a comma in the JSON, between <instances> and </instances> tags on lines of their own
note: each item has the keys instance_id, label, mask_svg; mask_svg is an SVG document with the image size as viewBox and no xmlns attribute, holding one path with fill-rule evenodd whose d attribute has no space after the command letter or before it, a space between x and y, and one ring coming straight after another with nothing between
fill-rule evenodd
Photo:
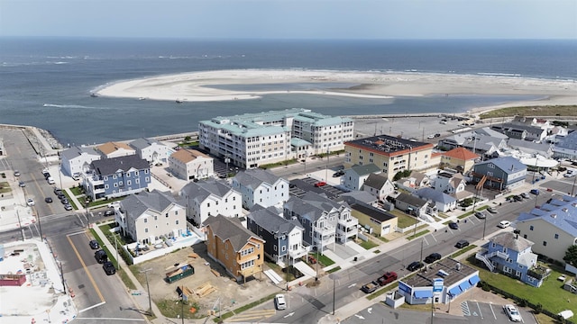
<instances>
[{"instance_id":1,"label":"blue ocean water surrounding the pale sandbar","mask_svg":"<svg viewBox=\"0 0 577 324\"><path fill-rule=\"evenodd\" d=\"M197 121L243 112L293 107L331 115L464 112L534 98L431 95L367 99L270 94L252 101L174 103L89 95L119 80L234 68L414 71L575 80L577 41L0 38L0 123L37 126L50 130L63 145L78 145L192 131L197 130ZM262 86L269 89L278 85ZM310 85L287 86L306 89Z\"/></svg>"}]
</instances>

